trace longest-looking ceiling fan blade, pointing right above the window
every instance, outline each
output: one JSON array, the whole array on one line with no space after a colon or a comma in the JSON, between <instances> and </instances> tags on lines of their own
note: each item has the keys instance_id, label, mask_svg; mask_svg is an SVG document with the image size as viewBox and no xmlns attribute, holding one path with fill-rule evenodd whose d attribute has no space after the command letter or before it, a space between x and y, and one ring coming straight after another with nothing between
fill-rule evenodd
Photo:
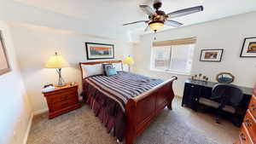
<instances>
[{"instance_id":1,"label":"longest-looking ceiling fan blade, pointing right above the window","mask_svg":"<svg viewBox=\"0 0 256 144\"><path fill-rule=\"evenodd\" d=\"M176 17L180 17L183 15L200 12L200 11L203 11L203 9L204 9L203 6L197 6L197 7L192 7L192 8L188 8L188 9L177 10L177 11L169 13L167 15L169 16L169 18L176 18Z\"/></svg>"}]
</instances>

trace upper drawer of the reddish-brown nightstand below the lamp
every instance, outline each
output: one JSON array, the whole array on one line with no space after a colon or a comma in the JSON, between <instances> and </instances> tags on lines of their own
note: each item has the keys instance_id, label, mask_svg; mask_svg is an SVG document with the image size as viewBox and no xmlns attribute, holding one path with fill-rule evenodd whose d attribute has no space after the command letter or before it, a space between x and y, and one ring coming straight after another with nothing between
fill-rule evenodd
<instances>
[{"instance_id":1,"label":"upper drawer of the reddish-brown nightstand below the lamp","mask_svg":"<svg viewBox=\"0 0 256 144\"><path fill-rule=\"evenodd\" d=\"M47 101L49 102L49 104L53 104L56 102L66 101L68 99L71 99L77 96L78 96L78 93L76 91L69 92L69 93L60 93L58 95L51 95L47 97Z\"/></svg>"}]
</instances>

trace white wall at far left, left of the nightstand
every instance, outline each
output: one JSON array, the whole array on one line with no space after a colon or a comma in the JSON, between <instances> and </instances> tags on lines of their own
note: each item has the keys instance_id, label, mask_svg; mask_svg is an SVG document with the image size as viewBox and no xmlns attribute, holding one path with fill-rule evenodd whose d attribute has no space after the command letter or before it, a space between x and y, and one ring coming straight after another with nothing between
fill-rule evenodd
<instances>
[{"instance_id":1,"label":"white wall at far left, left of the nightstand","mask_svg":"<svg viewBox=\"0 0 256 144\"><path fill-rule=\"evenodd\" d=\"M11 72L0 76L0 144L21 144L31 118L32 108L20 76L9 26L0 21L0 30L9 57Z\"/></svg>"}]
</instances>

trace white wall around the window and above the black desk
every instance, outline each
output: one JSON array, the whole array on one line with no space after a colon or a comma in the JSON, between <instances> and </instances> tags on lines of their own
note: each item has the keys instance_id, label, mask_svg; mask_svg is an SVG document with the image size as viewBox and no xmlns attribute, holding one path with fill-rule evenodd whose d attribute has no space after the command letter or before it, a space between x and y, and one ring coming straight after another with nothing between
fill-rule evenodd
<instances>
[{"instance_id":1,"label":"white wall around the window and above the black desk","mask_svg":"<svg viewBox=\"0 0 256 144\"><path fill-rule=\"evenodd\" d=\"M194 26L186 26L157 33L157 41L177 39L183 37L197 37L195 55L191 74L202 73L215 81L218 72L231 72L236 77L234 84L253 87L256 80L256 58L240 58L241 46L245 37L256 37L256 13L240 14L233 17L213 20ZM174 91L183 95L183 84L189 76L175 73L150 71L151 44L153 34L141 37L135 49L136 72L155 78L171 78L177 75ZM201 49L224 49L221 62L199 61Z\"/></svg>"}]
</instances>

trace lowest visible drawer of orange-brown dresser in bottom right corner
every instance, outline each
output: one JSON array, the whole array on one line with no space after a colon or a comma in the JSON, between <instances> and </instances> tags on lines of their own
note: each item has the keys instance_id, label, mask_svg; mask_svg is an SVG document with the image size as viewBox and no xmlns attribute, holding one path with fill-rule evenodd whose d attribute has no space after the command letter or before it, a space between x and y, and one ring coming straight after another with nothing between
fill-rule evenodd
<instances>
[{"instance_id":1,"label":"lowest visible drawer of orange-brown dresser in bottom right corner","mask_svg":"<svg viewBox=\"0 0 256 144\"><path fill-rule=\"evenodd\" d=\"M241 130L239 132L239 141L241 144L253 144L253 141L248 134L248 130L244 123L241 125Z\"/></svg>"}]
</instances>

